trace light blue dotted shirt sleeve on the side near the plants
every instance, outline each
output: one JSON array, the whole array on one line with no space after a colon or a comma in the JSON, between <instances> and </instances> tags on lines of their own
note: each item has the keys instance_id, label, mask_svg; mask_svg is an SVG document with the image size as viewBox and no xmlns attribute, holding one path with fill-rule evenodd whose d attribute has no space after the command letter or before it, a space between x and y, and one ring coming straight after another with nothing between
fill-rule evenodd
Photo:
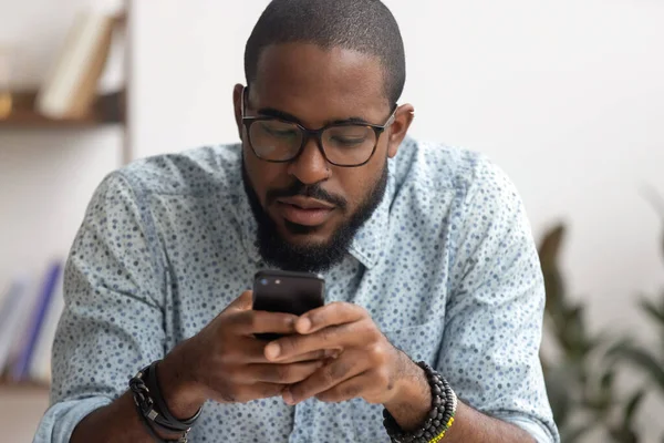
<instances>
[{"instance_id":1,"label":"light blue dotted shirt sleeve on the side near the plants","mask_svg":"<svg viewBox=\"0 0 664 443\"><path fill-rule=\"evenodd\" d=\"M539 348L544 286L523 205L488 161L474 165L450 217L449 299L439 371L460 400L559 442Z\"/></svg>"}]
</instances>

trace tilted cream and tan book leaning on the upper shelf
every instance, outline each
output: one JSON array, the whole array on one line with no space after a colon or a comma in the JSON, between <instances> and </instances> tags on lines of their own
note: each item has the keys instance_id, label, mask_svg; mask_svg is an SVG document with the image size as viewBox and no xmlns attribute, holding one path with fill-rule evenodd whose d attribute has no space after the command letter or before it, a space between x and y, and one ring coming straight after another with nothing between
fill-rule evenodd
<instances>
[{"instance_id":1,"label":"tilted cream and tan book leaning on the upper shelf","mask_svg":"<svg viewBox=\"0 0 664 443\"><path fill-rule=\"evenodd\" d=\"M79 13L39 90L37 111L52 119L80 119L90 113L116 23L116 17L107 13Z\"/></svg>"}]
</instances>

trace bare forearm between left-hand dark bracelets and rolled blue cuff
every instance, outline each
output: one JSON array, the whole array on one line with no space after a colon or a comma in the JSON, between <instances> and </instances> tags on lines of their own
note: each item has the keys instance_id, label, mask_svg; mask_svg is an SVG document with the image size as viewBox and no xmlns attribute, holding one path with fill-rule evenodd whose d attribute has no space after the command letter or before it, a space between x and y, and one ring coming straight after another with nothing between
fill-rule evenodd
<instances>
[{"instance_id":1,"label":"bare forearm between left-hand dark bracelets and rolled blue cuff","mask_svg":"<svg viewBox=\"0 0 664 443\"><path fill-rule=\"evenodd\" d=\"M180 435L160 435L177 440ZM135 442L152 443L145 423L138 416L132 392L127 391L113 403L100 408L81 420L74 429L71 443Z\"/></svg>"}]
</instances>

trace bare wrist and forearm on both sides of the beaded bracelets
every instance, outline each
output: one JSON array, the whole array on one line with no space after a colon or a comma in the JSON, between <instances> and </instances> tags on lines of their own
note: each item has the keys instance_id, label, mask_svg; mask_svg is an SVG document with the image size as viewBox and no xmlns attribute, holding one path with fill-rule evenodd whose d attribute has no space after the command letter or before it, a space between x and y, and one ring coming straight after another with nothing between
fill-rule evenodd
<instances>
[{"instance_id":1,"label":"bare wrist and forearm on both sides of the beaded bracelets","mask_svg":"<svg viewBox=\"0 0 664 443\"><path fill-rule=\"evenodd\" d=\"M403 430L419 427L430 410L432 393L424 371L409 367L394 401L385 408ZM454 425L445 433L449 443L532 443L535 439L520 427L485 415L461 401L458 402Z\"/></svg>"}]
</instances>

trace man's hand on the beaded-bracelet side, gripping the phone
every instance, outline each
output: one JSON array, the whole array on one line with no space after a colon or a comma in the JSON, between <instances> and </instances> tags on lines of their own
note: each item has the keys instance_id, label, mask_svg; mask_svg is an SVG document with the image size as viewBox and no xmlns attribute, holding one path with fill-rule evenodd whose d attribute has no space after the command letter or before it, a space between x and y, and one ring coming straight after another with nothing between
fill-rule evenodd
<instances>
[{"instance_id":1,"label":"man's hand on the beaded-bracelet side, gripping the phone","mask_svg":"<svg viewBox=\"0 0 664 443\"><path fill-rule=\"evenodd\" d=\"M300 334L268 344L266 358L283 362L311 352L335 351L336 357L303 381L281 393L289 404L310 396L325 402L362 398L369 403L387 403L398 392L409 362L387 341L360 306L333 302L302 315L295 322Z\"/></svg>"}]
</instances>

